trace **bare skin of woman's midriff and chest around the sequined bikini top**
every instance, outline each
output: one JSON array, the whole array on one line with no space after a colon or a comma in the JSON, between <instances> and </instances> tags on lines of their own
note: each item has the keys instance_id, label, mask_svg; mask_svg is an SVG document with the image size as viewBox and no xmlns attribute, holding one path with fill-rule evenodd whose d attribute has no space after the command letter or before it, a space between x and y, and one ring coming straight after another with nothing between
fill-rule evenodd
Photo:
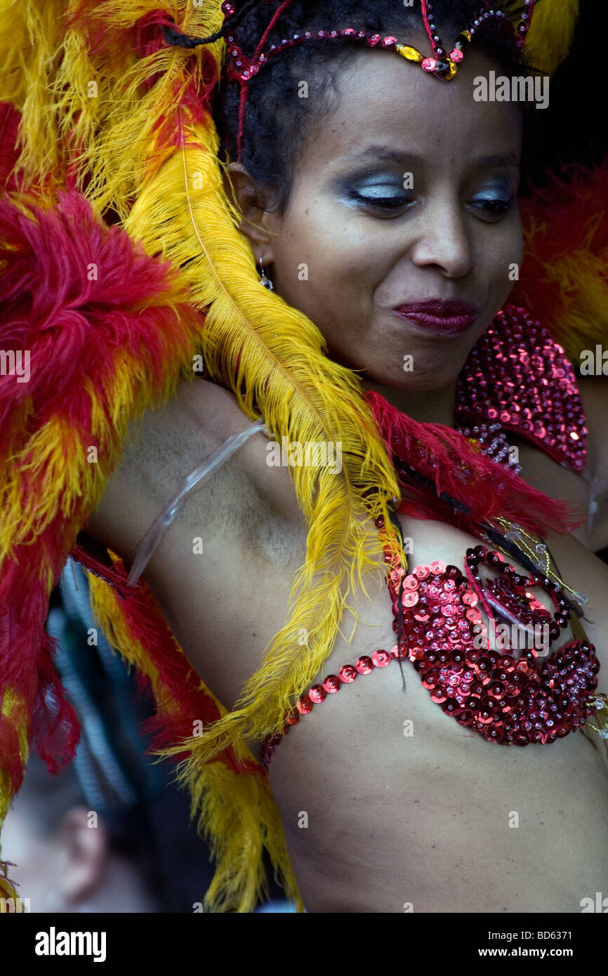
<instances>
[{"instance_id":1,"label":"bare skin of woman's midriff and chest around the sequined bikini top","mask_svg":"<svg viewBox=\"0 0 608 976\"><path fill-rule=\"evenodd\" d=\"M478 542L442 523L402 527L410 572L433 562L463 567ZM575 540L547 541L566 584L588 595L585 628L604 660L598 690L608 691L608 570ZM345 664L356 667L394 643L388 593L370 596L354 603L360 624L325 662L321 687ZM432 621L419 623L427 635ZM452 650L449 633L443 643ZM549 653L572 636L564 629ZM520 659L525 650L512 653ZM401 912L409 902L432 912L580 911L593 885L605 882L603 742L591 745L581 732L545 745L528 740L526 748L485 741L446 711L446 696L415 662L405 658L402 669L403 677L395 660L363 669L326 694L270 760L308 911ZM480 687L492 676L481 674Z\"/></svg>"}]
</instances>

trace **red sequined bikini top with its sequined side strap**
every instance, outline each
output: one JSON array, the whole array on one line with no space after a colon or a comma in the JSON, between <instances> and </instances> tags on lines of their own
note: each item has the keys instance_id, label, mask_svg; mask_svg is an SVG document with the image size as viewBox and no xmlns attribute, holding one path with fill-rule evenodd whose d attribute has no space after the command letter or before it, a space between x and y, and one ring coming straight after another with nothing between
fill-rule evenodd
<instances>
[{"instance_id":1,"label":"red sequined bikini top with its sequined side strap","mask_svg":"<svg viewBox=\"0 0 608 976\"><path fill-rule=\"evenodd\" d=\"M500 575L483 578L481 564ZM500 552L477 546L466 550L464 572L441 560L416 566L409 574L393 565L386 582L396 644L390 651L362 655L308 688L296 708L285 715L281 732L265 739L266 768L283 736L302 715L360 675L402 659L412 662L432 702L486 742L547 745L586 723L601 737L608 736L604 717L608 698L595 693L599 671L595 649L559 588L543 581L541 574L520 576ZM554 614L530 592L535 584L550 593ZM480 607L495 630L495 647L488 640ZM569 620L573 631L582 636L541 660ZM509 653L513 625L517 646L519 634L528 638L524 644L528 650L518 659ZM588 718L600 711L597 728Z\"/></svg>"}]
</instances>

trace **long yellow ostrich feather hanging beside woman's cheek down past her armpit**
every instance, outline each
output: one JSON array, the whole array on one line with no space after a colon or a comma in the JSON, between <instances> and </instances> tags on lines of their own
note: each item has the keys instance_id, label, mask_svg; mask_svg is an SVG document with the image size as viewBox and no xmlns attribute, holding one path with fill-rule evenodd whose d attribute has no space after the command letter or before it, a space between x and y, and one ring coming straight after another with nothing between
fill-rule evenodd
<instances>
[{"instance_id":1,"label":"long yellow ostrich feather hanging beside woman's cheek down past her armpit","mask_svg":"<svg viewBox=\"0 0 608 976\"><path fill-rule=\"evenodd\" d=\"M215 135L211 126L209 131ZM202 140L202 133L192 135L195 145ZM223 195L209 189L221 180L212 149L215 146L184 148L169 159L142 189L126 229L149 253L162 248L163 256L175 264L188 261L183 273L193 302L209 307L201 336L207 369L212 379L233 389L241 409L254 418L259 408L279 440L285 434L301 443L341 441L343 451L340 473L306 466L293 469L310 524L306 564L294 588L305 592L295 601L292 621L277 635L272 655L244 693L253 696L247 712L252 719L254 711L272 701L272 711L247 726L248 734L261 736L278 723L276 709L286 710L290 696L313 678L329 653L339 616L337 601L344 606L339 592L345 579L361 584L361 572L374 565L373 549L366 552L369 531L361 522L361 490L384 484L386 498L398 489L371 416L363 404L359 416L353 411L360 398L359 382L327 358L320 332L304 314L260 287L251 249L235 231ZM192 188L196 180L204 187L200 191ZM377 500L377 514L381 513L387 520L382 495ZM379 562L382 548L376 533L374 537ZM334 560L332 582L326 576L314 585L315 574L332 573ZM307 648L298 642L302 628L312 637ZM237 708L218 727L218 734L228 728L242 734L245 717ZM203 736L196 743L199 752L205 744Z\"/></svg>"}]
</instances>

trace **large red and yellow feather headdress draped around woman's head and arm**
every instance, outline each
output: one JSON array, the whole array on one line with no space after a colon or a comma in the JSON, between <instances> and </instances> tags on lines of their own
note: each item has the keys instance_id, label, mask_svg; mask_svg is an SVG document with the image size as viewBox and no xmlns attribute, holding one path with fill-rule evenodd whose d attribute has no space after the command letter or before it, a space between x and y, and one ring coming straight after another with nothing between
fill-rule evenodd
<instances>
[{"instance_id":1,"label":"large red and yellow feather headdress draped around woman's head and arm","mask_svg":"<svg viewBox=\"0 0 608 976\"><path fill-rule=\"evenodd\" d=\"M151 686L155 746L182 759L193 813L218 859L207 907L247 912L263 891L264 847L288 895L299 895L265 774L244 740L272 733L313 680L348 590L382 573L384 545L403 553L389 520L395 472L359 383L325 355L323 337L302 312L260 288L237 230L240 215L223 192L210 106L230 44L220 33L224 19L239 16L228 6L0 3L0 107L10 136L0 158L9 190L0 202L0 345L31 349L28 384L0 377L0 821L30 745L52 764L76 742L44 629L49 593L101 499L128 421L165 402L180 376L191 379L202 355L207 375L234 392L252 421L262 415L279 441L343 444L339 474L292 469L310 524L309 555L294 584L292 616L233 712L192 675L145 584L125 598L118 556L111 553L124 587L91 578L101 627ZM287 5L258 6L267 6L270 24ZM578 5L541 0L538 8L528 40L535 61L554 68L567 52ZM171 31L217 39L180 49ZM435 61L443 58L432 52ZM442 68L432 70L441 78ZM590 246L587 238L581 266ZM576 275L571 252L563 264ZM600 298L606 305L602 281L594 285L598 307ZM567 304L555 320L566 349L580 347L568 345ZM588 327L587 335L596 333ZM388 543L363 530L361 513L385 519ZM49 685L58 703L51 711L41 706ZM200 737L192 737L192 714L207 723ZM12 892L2 877L0 891Z\"/></svg>"}]
</instances>

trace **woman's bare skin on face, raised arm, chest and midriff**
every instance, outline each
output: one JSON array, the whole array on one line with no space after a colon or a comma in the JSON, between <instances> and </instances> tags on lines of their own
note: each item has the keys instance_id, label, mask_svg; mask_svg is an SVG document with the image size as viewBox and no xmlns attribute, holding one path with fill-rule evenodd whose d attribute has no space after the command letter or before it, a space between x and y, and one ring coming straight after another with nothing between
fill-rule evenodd
<instances>
[{"instance_id":1,"label":"woman's bare skin on face, raised arm, chest and midriff","mask_svg":"<svg viewBox=\"0 0 608 976\"><path fill-rule=\"evenodd\" d=\"M353 52L335 109L304 146L282 215L230 164L241 231L271 267L277 294L312 319L329 354L361 371L364 386L421 421L453 424L458 374L507 301L508 265L521 261L519 115L511 103L473 102L471 94L473 77L491 67L471 51L448 84L386 52ZM392 314L431 298L476 305L474 324L438 336ZM413 372L403 370L404 354L413 355ZM205 456L248 423L222 387L179 386L125 452L91 534L132 561L192 469L191 445ZM266 442L254 435L188 500L144 574L186 658L229 710L285 623L305 555L290 472L268 468ZM585 519L583 478L518 446L522 476ZM156 452L162 463L151 465ZM466 548L478 542L438 521L401 525L413 566L442 559L463 567ZM201 526L204 560L191 554ZM585 527L567 538L549 532L547 544L566 582L588 594L586 630L608 671L608 568L590 551ZM316 681L393 645L384 586L353 597L352 611ZM402 913L411 903L417 913L580 912L581 899L608 884L599 750L580 734L525 749L484 742L430 701L411 667L403 672L405 688L393 662L328 696L272 757L270 787L307 911ZM261 754L259 743L251 746Z\"/></svg>"}]
</instances>

